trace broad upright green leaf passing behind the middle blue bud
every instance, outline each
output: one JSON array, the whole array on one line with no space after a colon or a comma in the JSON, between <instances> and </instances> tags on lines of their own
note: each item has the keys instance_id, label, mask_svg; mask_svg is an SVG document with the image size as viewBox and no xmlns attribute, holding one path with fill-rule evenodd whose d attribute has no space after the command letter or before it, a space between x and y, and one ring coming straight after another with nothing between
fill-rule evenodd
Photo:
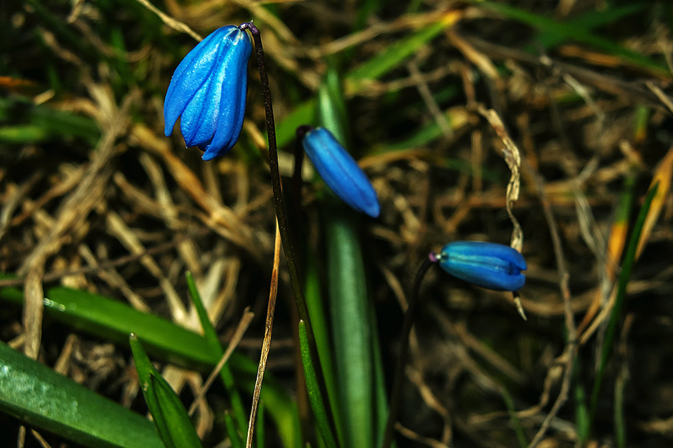
<instances>
[{"instance_id":1,"label":"broad upright green leaf passing behind the middle blue bud","mask_svg":"<svg viewBox=\"0 0 673 448\"><path fill-rule=\"evenodd\" d=\"M347 110L339 75L330 67L318 96L321 125L347 145ZM331 196L331 195L330 195ZM327 198L328 202L336 200ZM383 363L373 337L376 318L367 296L362 248L354 213L326 213L328 292L338 385L339 436L347 447L372 447L383 434L387 404Z\"/></svg>"}]
</instances>

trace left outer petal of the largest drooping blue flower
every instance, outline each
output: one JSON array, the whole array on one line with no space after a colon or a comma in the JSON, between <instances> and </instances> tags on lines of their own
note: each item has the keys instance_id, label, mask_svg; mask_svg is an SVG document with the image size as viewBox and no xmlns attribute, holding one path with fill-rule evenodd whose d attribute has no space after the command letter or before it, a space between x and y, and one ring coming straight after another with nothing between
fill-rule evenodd
<instances>
[{"instance_id":1,"label":"left outer petal of the largest drooping blue flower","mask_svg":"<svg viewBox=\"0 0 673 448\"><path fill-rule=\"evenodd\" d=\"M220 47L226 46L227 36L234 30L240 32L238 27L233 25L218 28L201 40L175 69L163 102L166 137L172 134L178 117L209 79L210 73L216 67Z\"/></svg>"}]
</instances>

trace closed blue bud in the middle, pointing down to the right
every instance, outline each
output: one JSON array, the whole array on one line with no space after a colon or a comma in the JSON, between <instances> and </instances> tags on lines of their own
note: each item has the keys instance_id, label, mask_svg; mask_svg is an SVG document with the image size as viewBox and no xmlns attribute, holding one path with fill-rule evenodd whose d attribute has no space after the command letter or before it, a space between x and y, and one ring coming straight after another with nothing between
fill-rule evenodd
<instances>
[{"instance_id":1,"label":"closed blue bud in the middle, pointing down to the right","mask_svg":"<svg viewBox=\"0 0 673 448\"><path fill-rule=\"evenodd\" d=\"M315 128L304 136L304 150L321 178L353 209L378 217L380 205L372 182L332 132Z\"/></svg>"}]
</instances>

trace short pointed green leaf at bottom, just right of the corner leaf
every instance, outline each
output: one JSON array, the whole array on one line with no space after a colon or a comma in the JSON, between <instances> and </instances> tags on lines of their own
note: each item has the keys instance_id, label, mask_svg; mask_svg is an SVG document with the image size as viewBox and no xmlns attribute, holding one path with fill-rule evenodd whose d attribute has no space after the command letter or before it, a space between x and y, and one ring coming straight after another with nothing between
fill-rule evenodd
<instances>
[{"instance_id":1,"label":"short pointed green leaf at bottom, just right of the corner leaf","mask_svg":"<svg viewBox=\"0 0 673 448\"><path fill-rule=\"evenodd\" d=\"M169 448L200 448L201 440L198 439L190 416L179 397L155 366L152 366L137 336L131 334L128 342L145 401L163 443Z\"/></svg>"}]
</instances>

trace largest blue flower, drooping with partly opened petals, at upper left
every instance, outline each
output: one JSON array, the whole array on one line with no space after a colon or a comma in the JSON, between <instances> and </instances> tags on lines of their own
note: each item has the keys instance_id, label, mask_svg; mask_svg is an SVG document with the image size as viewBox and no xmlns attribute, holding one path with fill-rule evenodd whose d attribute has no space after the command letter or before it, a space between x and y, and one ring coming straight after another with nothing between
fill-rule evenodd
<instances>
[{"instance_id":1,"label":"largest blue flower, drooping with partly opened petals, at upper left","mask_svg":"<svg viewBox=\"0 0 673 448\"><path fill-rule=\"evenodd\" d=\"M181 117L185 143L205 151L203 160L236 145L245 115L251 51L247 33L229 25L212 32L185 56L173 73L163 104L166 137Z\"/></svg>"}]
</instances>

